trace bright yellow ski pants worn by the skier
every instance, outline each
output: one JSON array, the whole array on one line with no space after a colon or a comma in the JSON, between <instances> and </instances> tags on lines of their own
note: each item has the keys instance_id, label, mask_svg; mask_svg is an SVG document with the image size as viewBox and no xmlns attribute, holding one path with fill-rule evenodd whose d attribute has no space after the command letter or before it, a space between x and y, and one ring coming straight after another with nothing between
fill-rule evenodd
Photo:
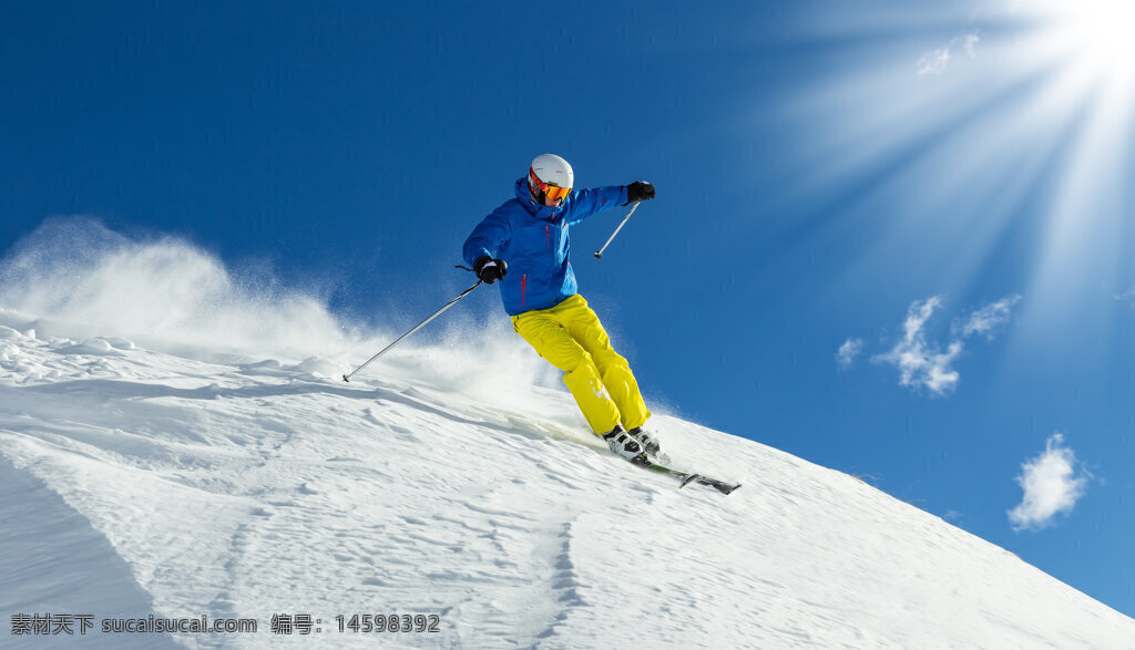
<instances>
[{"instance_id":1,"label":"bright yellow ski pants worn by the skier","mask_svg":"<svg viewBox=\"0 0 1135 650\"><path fill-rule=\"evenodd\" d=\"M630 365L611 348L599 316L583 296L514 315L512 324L540 356L564 371L564 385L596 434L620 423L631 430L650 417Z\"/></svg>"}]
</instances>

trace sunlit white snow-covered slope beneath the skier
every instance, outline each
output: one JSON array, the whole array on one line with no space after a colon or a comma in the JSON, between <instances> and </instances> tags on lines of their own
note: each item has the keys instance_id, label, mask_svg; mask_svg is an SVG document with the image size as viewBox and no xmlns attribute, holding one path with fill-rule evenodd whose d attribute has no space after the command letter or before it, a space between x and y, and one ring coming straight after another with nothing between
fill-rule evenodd
<instances>
[{"instance_id":1,"label":"sunlit white snow-covered slope beneath the skier","mask_svg":"<svg viewBox=\"0 0 1135 650\"><path fill-rule=\"evenodd\" d=\"M745 486L679 491L564 392L336 368L0 327L0 611L260 624L119 647L1135 647L1011 554L759 444L656 416L681 466ZM272 635L279 613L323 632ZM355 613L442 632L338 633Z\"/></svg>"}]
</instances>

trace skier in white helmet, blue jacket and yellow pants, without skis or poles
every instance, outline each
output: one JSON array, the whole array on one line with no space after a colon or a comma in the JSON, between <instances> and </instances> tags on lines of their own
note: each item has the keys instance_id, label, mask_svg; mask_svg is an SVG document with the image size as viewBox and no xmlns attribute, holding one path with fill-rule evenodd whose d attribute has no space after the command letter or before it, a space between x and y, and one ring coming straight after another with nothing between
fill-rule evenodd
<instances>
[{"instance_id":1,"label":"skier in white helmet, blue jacket and yellow pants, without skis or poles","mask_svg":"<svg viewBox=\"0 0 1135 650\"><path fill-rule=\"evenodd\" d=\"M558 155L536 157L528 177L469 235L464 259L486 284L501 280L501 298L516 332L552 365L591 430L612 451L647 465L661 453L642 427L650 412L627 360L611 347L595 311L577 292L569 229L602 210L654 199L654 185L572 192L574 172Z\"/></svg>"}]
</instances>

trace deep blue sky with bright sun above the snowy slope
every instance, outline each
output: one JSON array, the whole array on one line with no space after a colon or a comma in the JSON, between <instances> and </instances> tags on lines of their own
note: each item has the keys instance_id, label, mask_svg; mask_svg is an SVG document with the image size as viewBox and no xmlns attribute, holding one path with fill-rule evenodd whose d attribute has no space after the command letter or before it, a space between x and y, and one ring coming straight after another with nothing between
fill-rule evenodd
<instances>
[{"instance_id":1,"label":"deep blue sky with bright sun above the snowy slope","mask_svg":"<svg viewBox=\"0 0 1135 650\"><path fill-rule=\"evenodd\" d=\"M7 3L0 244L94 216L409 327L536 154L648 179L573 265L649 400L1135 615L1135 52L1070 6Z\"/></svg>"}]
</instances>

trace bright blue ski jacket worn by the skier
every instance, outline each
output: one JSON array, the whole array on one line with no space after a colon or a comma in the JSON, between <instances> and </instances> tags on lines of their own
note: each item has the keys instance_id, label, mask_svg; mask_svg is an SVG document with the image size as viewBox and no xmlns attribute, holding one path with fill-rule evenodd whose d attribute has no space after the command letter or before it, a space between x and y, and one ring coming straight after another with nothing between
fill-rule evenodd
<instances>
[{"instance_id":1,"label":"bright blue ski jacket worn by the skier","mask_svg":"<svg viewBox=\"0 0 1135 650\"><path fill-rule=\"evenodd\" d=\"M554 307L575 295L575 273L568 260L569 229L596 212L627 203L627 187L619 185L572 192L556 208L533 202L526 178L516 180L514 189L516 197L478 223L463 251L469 265L481 255L508 264L508 273L499 281L508 315Z\"/></svg>"}]
</instances>

